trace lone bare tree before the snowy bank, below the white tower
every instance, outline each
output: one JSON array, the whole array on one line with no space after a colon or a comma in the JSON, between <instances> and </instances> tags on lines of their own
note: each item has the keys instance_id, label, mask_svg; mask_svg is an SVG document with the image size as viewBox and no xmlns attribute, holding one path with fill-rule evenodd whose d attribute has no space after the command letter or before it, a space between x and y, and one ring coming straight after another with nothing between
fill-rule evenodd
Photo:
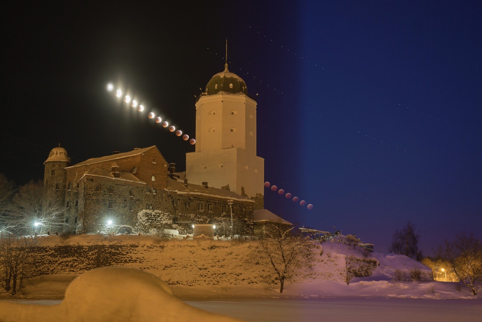
<instances>
[{"instance_id":1,"label":"lone bare tree before the snowy bank, below the white tower","mask_svg":"<svg viewBox=\"0 0 482 322\"><path fill-rule=\"evenodd\" d=\"M313 241L309 237L293 235L292 228L271 225L266 232L267 237L260 239L257 260L270 268L280 281L280 293L283 293L284 281L293 274L295 264L308 260L311 255ZM307 263L309 264L309 263Z\"/></svg>"}]
</instances>

